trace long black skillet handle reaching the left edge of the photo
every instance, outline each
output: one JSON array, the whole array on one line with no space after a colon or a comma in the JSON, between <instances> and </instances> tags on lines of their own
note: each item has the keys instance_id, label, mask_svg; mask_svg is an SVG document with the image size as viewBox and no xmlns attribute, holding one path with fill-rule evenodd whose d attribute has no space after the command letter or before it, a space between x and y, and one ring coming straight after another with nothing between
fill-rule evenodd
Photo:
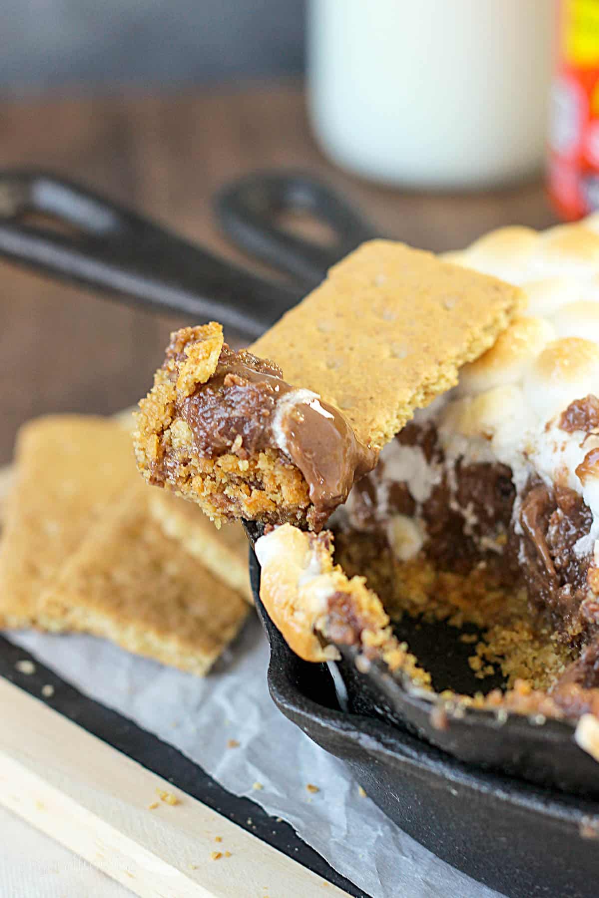
<instances>
[{"instance_id":1,"label":"long black skillet handle reaching the left edge of the photo","mask_svg":"<svg viewBox=\"0 0 599 898\"><path fill-rule=\"evenodd\" d=\"M252 275L91 190L0 172L0 257L257 337L304 292Z\"/></svg>"}]
</instances>

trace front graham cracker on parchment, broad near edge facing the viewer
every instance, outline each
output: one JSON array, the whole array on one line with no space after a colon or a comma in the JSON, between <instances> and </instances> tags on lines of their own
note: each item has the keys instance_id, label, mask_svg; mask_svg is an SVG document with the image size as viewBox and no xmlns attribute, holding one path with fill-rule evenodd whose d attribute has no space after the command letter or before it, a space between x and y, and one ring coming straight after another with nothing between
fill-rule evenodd
<instances>
[{"instance_id":1,"label":"front graham cracker on parchment, broad near edge facing the viewer","mask_svg":"<svg viewBox=\"0 0 599 898\"><path fill-rule=\"evenodd\" d=\"M139 479L87 533L40 599L44 629L81 630L206 674L248 613L241 596L165 535Z\"/></svg>"}]
</instances>

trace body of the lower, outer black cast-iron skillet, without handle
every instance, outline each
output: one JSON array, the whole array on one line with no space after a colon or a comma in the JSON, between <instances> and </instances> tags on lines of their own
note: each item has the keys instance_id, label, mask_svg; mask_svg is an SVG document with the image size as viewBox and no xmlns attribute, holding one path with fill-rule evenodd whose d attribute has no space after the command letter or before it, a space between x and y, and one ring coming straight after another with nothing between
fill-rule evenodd
<instances>
[{"instance_id":1,"label":"body of the lower, outer black cast-iron skillet, without handle","mask_svg":"<svg viewBox=\"0 0 599 898\"><path fill-rule=\"evenodd\" d=\"M336 709L327 666L295 656L270 621L253 552L251 582L269 637L269 690L278 709L347 762L384 814L438 857L510 898L596 898L598 802L481 770L401 723Z\"/></svg>"}]
</instances>

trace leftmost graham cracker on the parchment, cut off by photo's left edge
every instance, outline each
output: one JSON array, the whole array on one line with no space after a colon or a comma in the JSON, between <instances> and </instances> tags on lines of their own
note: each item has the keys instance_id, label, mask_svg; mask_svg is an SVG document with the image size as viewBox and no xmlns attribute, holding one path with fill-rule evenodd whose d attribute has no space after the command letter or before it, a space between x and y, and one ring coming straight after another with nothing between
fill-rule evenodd
<instances>
[{"instance_id":1,"label":"leftmost graham cracker on the parchment, cut off by photo's left edge","mask_svg":"<svg viewBox=\"0 0 599 898\"><path fill-rule=\"evenodd\" d=\"M107 418L52 415L21 428L0 543L0 626L35 621L40 593L136 477L130 436Z\"/></svg>"}]
</instances>

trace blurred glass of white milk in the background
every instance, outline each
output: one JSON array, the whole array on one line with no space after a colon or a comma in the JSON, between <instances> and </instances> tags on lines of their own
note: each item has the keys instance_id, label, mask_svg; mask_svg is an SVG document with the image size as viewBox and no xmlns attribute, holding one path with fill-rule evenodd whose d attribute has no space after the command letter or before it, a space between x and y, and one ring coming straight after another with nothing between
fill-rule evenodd
<instances>
[{"instance_id":1,"label":"blurred glass of white milk in the background","mask_svg":"<svg viewBox=\"0 0 599 898\"><path fill-rule=\"evenodd\" d=\"M541 169L555 0L310 0L324 152L391 185L480 188Z\"/></svg>"}]
</instances>

